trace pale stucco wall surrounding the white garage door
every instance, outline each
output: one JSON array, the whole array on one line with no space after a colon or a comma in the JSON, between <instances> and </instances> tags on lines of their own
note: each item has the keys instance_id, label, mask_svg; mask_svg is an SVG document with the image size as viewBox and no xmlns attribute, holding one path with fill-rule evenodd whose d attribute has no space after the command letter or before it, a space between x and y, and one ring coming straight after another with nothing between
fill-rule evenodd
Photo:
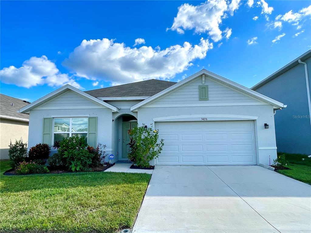
<instances>
[{"instance_id":1,"label":"pale stucco wall surrounding the white garage door","mask_svg":"<svg viewBox=\"0 0 311 233\"><path fill-rule=\"evenodd\" d=\"M276 158L276 139L274 127L273 107L271 105L250 105L250 106L217 106L217 107L144 107L138 109L138 124L153 124L153 118L168 117L191 114L223 114L223 115L244 115L258 117L255 120L255 138L257 164L272 163ZM200 121L198 118L187 118L187 121ZM220 119L218 119L220 120ZM228 120L228 119L224 119ZM231 119L232 120L232 119ZM175 121L175 120L168 120ZM269 125L269 129L264 128L264 123ZM164 142L165 143L165 142Z\"/></svg>"}]
</instances>

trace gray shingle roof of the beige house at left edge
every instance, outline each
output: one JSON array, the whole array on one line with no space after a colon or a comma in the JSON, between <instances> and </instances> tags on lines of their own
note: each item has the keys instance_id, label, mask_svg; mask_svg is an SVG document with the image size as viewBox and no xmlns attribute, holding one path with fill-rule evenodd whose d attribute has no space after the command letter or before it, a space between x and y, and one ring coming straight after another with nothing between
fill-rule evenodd
<instances>
[{"instance_id":1,"label":"gray shingle roof of the beige house at left edge","mask_svg":"<svg viewBox=\"0 0 311 233\"><path fill-rule=\"evenodd\" d=\"M30 102L17 99L8 95L0 94L0 118L17 121L29 121L29 115L17 113L20 108L25 107Z\"/></svg>"}]
</instances>

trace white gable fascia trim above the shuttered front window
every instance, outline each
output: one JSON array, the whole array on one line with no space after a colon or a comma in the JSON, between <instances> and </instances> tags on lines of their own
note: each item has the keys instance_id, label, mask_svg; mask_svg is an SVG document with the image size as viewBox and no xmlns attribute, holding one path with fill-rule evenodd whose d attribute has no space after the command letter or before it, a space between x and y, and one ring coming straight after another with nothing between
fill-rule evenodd
<instances>
[{"instance_id":1,"label":"white gable fascia trim above the shuttered front window","mask_svg":"<svg viewBox=\"0 0 311 233\"><path fill-rule=\"evenodd\" d=\"M81 90L79 90L79 89L77 89L77 88L75 88L75 87L73 87L73 86L71 86L69 84L66 84L65 86L63 86L63 87L61 87L61 88L51 92L50 94L47 94L47 95L45 95L42 98L39 98L35 102L32 102L32 103L26 105L25 107L22 107L17 112L25 113L25 112L33 109L34 107L37 107L37 106L45 103L46 101L48 101L48 100L58 96L59 94L62 94L63 92L65 92L67 90L72 90L73 92L76 92L77 94L80 94L80 95L82 95L82 96L84 96L84 97L86 97L86 98L88 98L88 99L90 99L90 100L92 100L92 101L94 101L96 103L99 103L100 105L108 107L108 108L110 108L111 110L113 110L115 112L119 112L119 109L117 107L115 107L115 106L113 106L113 105L111 105L109 103L106 103L106 102L104 102L104 101L102 101L102 100L100 100L98 98L95 98L94 96L86 94L85 92L83 92L83 91L81 91Z\"/></svg>"}]
</instances>

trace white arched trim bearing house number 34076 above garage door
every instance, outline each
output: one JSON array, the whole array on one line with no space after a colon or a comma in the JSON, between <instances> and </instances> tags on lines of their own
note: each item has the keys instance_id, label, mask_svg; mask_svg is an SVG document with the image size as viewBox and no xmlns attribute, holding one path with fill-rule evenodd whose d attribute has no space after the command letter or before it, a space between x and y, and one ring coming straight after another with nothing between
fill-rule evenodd
<instances>
[{"instance_id":1,"label":"white arched trim bearing house number 34076 above garage door","mask_svg":"<svg viewBox=\"0 0 311 233\"><path fill-rule=\"evenodd\" d=\"M156 117L152 118L154 122L158 121L167 121L173 119L186 119L186 118L232 118L232 119L244 119L244 120L257 120L256 116L244 116L244 115L226 115L226 114L195 114L195 115L177 115L177 116L168 116L168 117ZM198 121L201 121L200 119ZM207 120L208 121L208 120Z\"/></svg>"}]
</instances>

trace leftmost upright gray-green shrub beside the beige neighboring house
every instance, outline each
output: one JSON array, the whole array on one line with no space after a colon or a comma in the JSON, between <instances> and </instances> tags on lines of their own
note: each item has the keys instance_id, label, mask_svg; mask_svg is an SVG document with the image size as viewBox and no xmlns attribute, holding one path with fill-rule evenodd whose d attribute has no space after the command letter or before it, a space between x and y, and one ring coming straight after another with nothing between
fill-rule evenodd
<instances>
[{"instance_id":1,"label":"leftmost upright gray-green shrub beside the beige neighboring house","mask_svg":"<svg viewBox=\"0 0 311 233\"><path fill-rule=\"evenodd\" d=\"M27 153L27 143L23 143L23 140L15 140L15 143L12 144L10 141L9 145L9 157L10 157L10 165L12 168L15 168L19 165L20 162L25 160L25 156Z\"/></svg>"}]
</instances>

